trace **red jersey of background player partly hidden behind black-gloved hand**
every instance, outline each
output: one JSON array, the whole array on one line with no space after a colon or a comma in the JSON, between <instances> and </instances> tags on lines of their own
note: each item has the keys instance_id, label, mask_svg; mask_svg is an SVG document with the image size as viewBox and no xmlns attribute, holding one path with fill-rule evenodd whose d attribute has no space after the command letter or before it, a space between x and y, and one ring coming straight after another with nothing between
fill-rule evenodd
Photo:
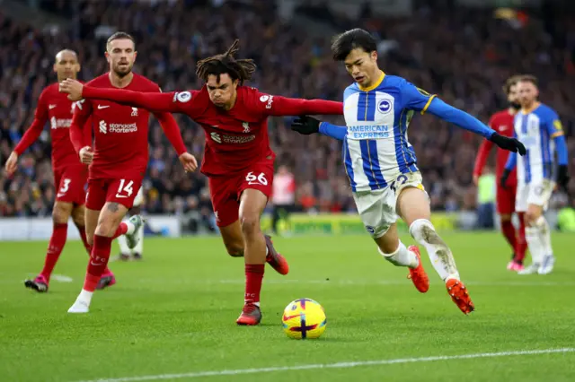
<instances>
[{"instance_id":1,"label":"red jersey of background player partly hidden behind black-gloved hand","mask_svg":"<svg viewBox=\"0 0 575 382\"><path fill-rule=\"evenodd\" d=\"M493 116L489 121L489 126L498 132L500 135L504 136L513 136L513 120L515 116L509 113L508 109L501 110ZM491 152L491 147L493 147L493 143L488 140L484 140L482 145L479 148L479 152L477 153L477 158L475 159L475 168L473 169L473 175L480 176L482 175L483 167L485 166L485 162L487 161L487 157ZM503 170L505 169L505 164L507 163L507 159L509 158L509 152L507 150L502 150L498 148L497 150L497 159L495 162L495 173L498 179L501 178L503 175ZM517 170L513 169L509 174L509 180L507 182L508 185L515 185L517 184Z\"/></svg>"}]
</instances>

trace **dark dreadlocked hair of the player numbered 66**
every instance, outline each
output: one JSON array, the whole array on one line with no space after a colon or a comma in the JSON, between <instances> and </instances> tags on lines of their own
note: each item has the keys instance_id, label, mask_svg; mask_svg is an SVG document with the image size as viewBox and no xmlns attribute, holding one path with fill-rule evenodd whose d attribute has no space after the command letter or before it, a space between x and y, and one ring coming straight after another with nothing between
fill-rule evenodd
<instances>
[{"instance_id":1,"label":"dark dreadlocked hair of the player numbered 66","mask_svg":"<svg viewBox=\"0 0 575 382\"><path fill-rule=\"evenodd\" d=\"M198 61L196 75L204 81L208 81L208 75L216 75L219 82L220 74L229 74L232 81L239 80L240 85L246 80L252 79L256 65L250 58L236 60L234 54L240 50L237 48L239 39L226 50L226 53L211 56Z\"/></svg>"}]
</instances>

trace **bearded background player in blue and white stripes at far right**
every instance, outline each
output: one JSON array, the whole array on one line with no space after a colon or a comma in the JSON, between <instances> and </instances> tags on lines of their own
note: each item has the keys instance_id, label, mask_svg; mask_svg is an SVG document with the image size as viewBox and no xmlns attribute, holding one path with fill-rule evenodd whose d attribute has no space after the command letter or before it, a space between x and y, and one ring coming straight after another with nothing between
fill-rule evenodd
<instances>
[{"instance_id":1,"label":"bearded background player in blue and white stripes at far right","mask_svg":"<svg viewBox=\"0 0 575 382\"><path fill-rule=\"evenodd\" d=\"M515 209L525 213L526 240L533 260L518 273L547 274L553 271L555 257L551 229L543 213L555 184L566 188L569 183L569 155L557 113L537 100L537 79L532 75L522 76L517 82L517 91L521 110L515 116L515 135L525 143L527 153L522 158L513 153L509 155L500 186L507 185L509 175L517 165Z\"/></svg>"}]
</instances>

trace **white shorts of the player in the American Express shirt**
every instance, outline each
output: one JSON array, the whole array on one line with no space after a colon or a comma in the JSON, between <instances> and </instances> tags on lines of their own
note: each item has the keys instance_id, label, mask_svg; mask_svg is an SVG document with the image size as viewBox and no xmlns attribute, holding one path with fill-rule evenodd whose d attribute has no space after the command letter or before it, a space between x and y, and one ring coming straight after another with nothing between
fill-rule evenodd
<instances>
[{"instance_id":1,"label":"white shorts of the player in the American Express shirt","mask_svg":"<svg viewBox=\"0 0 575 382\"><path fill-rule=\"evenodd\" d=\"M353 193L359 217L372 238L384 236L391 225L397 221L398 215L395 208L397 195L402 192L403 188L416 187L425 192L421 181L420 172L398 174L394 181L389 182L388 187Z\"/></svg>"}]
</instances>

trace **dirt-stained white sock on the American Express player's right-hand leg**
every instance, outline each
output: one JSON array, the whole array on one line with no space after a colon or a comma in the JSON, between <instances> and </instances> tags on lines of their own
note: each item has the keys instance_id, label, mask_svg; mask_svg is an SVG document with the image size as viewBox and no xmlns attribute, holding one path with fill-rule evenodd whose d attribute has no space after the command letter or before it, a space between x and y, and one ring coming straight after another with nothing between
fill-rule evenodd
<instances>
[{"instance_id":1,"label":"dirt-stained white sock on the American Express player's right-hand leg","mask_svg":"<svg viewBox=\"0 0 575 382\"><path fill-rule=\"evenodd\" d=\"M410 226L410 234L428 252L431 264L444 282L447 279L459 280L456 261L451 254L451 249L443 239L439 238L431 221L418 219Z\"/></svg>"}]
</instances>

